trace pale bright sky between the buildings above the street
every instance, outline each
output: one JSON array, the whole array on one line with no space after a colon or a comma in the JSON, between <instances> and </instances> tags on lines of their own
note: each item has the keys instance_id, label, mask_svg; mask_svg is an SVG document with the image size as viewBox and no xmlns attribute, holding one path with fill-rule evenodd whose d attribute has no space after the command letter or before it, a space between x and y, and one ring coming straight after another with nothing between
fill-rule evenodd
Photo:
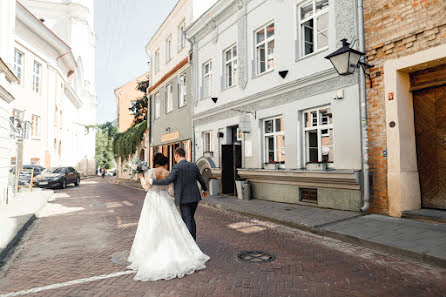
<instances>
[{"instance_id":1,"label":"pale bright sky between the buildings above the street","mask_svg":"<svg viewBox=\"0 0 446 297\"><path fill-rule=\"evenodd\" d=\"M95 0L97 122L117 118L113 91L148 71L145 46L177 0Z\"/></svg>"}]
</instances>

